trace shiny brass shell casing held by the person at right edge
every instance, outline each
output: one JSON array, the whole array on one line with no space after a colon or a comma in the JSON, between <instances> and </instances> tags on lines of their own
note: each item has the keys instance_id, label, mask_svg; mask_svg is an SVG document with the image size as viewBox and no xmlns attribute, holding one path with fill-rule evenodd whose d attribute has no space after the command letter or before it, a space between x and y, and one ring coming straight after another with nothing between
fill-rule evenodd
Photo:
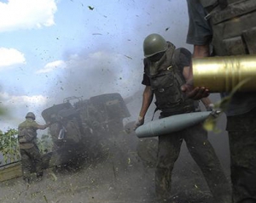
<instances>
[{"instance_id":1,"label":"shiny brass shell casing held by the person at right edge","mask_svg":"<svg viewBox=\"0 0 256 203\"><path fill-rule=\"evenodd\" d=\"M194 87L223 93L247 80L238 91L256 92L256 55L195 58L192 67Z\"/></svg>"}]
</instances>

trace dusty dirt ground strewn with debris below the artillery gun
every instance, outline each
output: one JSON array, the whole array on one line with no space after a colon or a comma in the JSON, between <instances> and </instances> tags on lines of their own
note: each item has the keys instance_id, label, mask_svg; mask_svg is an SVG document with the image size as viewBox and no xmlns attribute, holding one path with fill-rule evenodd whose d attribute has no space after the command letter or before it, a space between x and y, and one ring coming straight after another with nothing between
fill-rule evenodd
<instances>
[{"instance_id":1,"label":"dusty dirt ground strewn with debris below the artillery gun","mask_svg":"<svg viewBox=\"0 0 256 203\"><path fill-rule=\"evenodd\" d=\"M155 149L148 160L138 147L148 147L132 131L121 132L102 146L102 155L77 166L47 169L44 178L27 188L22 178L0 183L1 203L137 203L154 197ZM156 139L149 140L149 148ZM145 144L146 143L146 144ZM153 144L153 145L152 145ZM184 148L184 147L183 147ZM195 163L185 149L174 168L173 203L208 203L212 197Z\"/></svg>"}]
</instances>

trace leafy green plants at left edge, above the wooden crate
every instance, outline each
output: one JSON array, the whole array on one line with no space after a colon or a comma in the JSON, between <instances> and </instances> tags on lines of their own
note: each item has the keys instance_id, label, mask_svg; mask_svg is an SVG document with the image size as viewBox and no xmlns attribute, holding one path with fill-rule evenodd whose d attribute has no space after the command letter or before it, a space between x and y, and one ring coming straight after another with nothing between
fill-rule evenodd
<instances>
[{"instance_id":1,"label":"leafy green plants at left edge, above the wooden crate","mask_svg":"<svg viewBox=\"0 0 256 203\"><path fill-rule=\"evenodd\" d=\"M15 129L9 129L6 133L0 132L0 151L3 154L3 163L20 160L17 135L18 131Z\"/></svg>"}]
</instances>

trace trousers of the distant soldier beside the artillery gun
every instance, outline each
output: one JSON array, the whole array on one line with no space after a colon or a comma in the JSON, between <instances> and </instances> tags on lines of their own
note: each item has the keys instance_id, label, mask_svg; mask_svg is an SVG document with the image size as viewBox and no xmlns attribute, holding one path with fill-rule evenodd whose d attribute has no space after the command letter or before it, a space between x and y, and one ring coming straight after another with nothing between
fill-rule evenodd
<instances>
[{"instance_id":1,"label":"trousers of the distant soldier beside the artillery gun","mask_svg":"<svg viewBox=\"0 0 256 203\"><path fill-rule=\"evenodd\" d=\"M37 176L43 175L43 161L38 146L30 149L20 149L23 178L31 178L31 173L36 172Z\"/></svg>"}]
</instances>

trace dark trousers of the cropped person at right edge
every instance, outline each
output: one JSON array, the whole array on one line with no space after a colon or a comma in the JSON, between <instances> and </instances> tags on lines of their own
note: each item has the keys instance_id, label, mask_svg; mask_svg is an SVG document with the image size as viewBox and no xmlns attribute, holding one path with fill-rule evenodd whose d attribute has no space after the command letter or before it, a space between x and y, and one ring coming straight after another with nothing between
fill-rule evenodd
<instances>
[{"instance_id":1,"label":"dark trousers of the cropped person at right edge","mask_svg":"<svg viewBox=\"0 0 256 203\"><path fill-rule=\"evenodd\" d=\"M256 108L227 117L234 203L256 203Z\"/></svg>"}]
</instances>

